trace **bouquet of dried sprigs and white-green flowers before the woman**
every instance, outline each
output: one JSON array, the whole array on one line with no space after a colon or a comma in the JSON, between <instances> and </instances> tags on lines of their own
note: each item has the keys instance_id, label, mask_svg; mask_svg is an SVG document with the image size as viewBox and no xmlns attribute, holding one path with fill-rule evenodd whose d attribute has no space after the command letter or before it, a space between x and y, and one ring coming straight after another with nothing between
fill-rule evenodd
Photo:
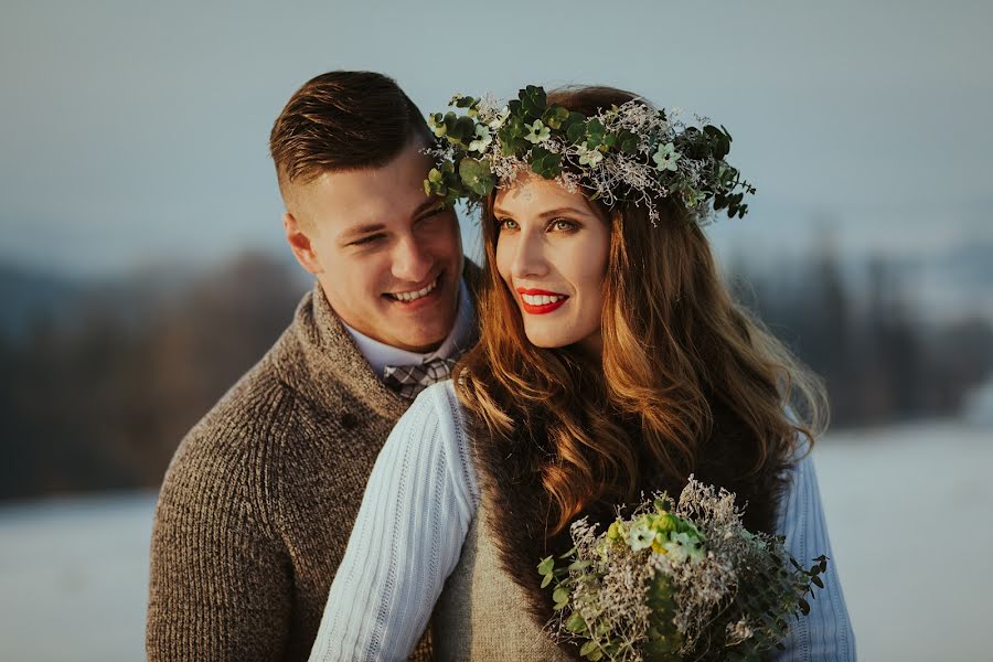
<instances>
[{"instance_id":1,"label":"bouquet of dried sprigs and white-green flowers before the woman","mask_svg":"<svg viewBox=\"0 0 993 662\"><path fill-rule=\"evenodd\" d=\"M573 523L573 549L538 565L556 610L546 630L591 661L764 659L810 612L828 557L804 569L741 516L733 493L691 476L675 505L656 494L599 534Z\"/></svg>"}]
</instances>

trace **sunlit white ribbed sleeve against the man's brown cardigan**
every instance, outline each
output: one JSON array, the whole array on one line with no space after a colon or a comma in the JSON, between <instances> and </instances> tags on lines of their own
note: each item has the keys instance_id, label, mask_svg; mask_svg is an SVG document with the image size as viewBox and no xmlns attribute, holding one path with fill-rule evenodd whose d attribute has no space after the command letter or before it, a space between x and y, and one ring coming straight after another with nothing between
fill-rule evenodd
<instances>
[{"instance_id":1,"label":"sunlit white ribbed sleeve against the man's brown cardigan","mask_svg":"<svg viewBox=\"0 0 993 662\"><path fill-rule=\"evenodd\" d=\"M311 662L406 659L478 502L461 410L451 382L442 382L417 397L376 459Z\"/></svg>"}]
</instances>

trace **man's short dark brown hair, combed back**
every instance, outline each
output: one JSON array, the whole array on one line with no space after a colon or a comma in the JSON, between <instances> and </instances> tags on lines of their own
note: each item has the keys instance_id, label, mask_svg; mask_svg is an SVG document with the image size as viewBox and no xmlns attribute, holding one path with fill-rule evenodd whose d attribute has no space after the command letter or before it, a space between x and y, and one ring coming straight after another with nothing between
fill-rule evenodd
<instances>
[{"instance_id":1,"label":"man's short dark brown hair, combed back","mask_svg":"<svg viewBox=\"0 0 993 662\"><path fill-rule=\"evenodd\" d=\"M290 97L269 135L279 190L324 172L381 168L412 138L431 140L396 81L374 72L328 72Z\"/></svg>"}]
</instances>

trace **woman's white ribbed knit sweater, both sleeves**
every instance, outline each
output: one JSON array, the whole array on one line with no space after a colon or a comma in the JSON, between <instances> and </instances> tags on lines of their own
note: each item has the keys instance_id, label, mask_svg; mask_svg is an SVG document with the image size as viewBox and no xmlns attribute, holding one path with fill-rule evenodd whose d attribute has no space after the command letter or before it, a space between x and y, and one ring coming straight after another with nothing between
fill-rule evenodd
<instances>
[{"instance_id":1,"label":"woman's white ribbed knit sweater, both sleeves","mask_svg":"<svg viewBox=\"0 0 993 662\"><path fill-rule=\"evenodd\" d=\"M399 419L370 477L311 662L404 660L420 639L479 504L466 430L451 381L425 389ZM796 558L832 556L810 457L779 510L778 532ZM855 660L833 558L824 584L776 660Z\"/></svg>"}]
</instances>

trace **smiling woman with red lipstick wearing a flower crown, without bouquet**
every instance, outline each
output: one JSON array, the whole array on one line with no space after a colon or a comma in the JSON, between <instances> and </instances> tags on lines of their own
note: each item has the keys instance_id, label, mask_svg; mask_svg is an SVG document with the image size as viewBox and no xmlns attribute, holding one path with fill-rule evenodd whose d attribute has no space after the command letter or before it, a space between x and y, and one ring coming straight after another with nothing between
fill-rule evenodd
<instances>
[{"instance_id":1,"label":"smiling woman with red lipstick wearing a flower crown, without bouquet","mask_svg":"<svg viewBox=\"0 0 993 662\"><path fill-rule=\"evenodd\" d=\"M744 215L752 191L726 131L611 88L455 103L476 119L433 117L449 147L426 188L485 205L480 342L387 440L311 660L403 659L433 611L436 659L574 659L542 631L537 562L576 519L691 473L801 562L830 556L801 444L823 393L733 302L701 229L709 199ZM825 584L779 659L854 659L833 567Z\"/></svg>"}]
</instances>

